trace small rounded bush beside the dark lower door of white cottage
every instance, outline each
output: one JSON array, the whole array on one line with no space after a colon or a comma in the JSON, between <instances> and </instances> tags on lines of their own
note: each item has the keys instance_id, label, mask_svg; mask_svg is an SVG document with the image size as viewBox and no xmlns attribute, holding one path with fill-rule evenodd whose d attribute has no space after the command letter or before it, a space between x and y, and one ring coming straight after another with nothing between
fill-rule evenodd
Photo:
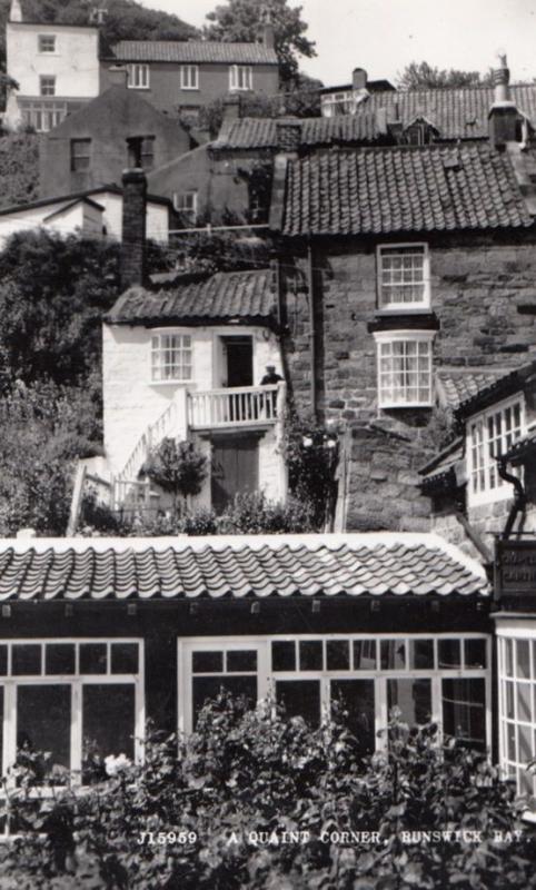
<instances>
[{"instance_id":1,"label":"small rounded bush beside the dark lower door of white cottage","mask_svg":"<svg viewBox=\"0 0 536 890\"><path fill-rule=\"evenodd\" d=\"M166 437L150 452L141 472L175 497L199 494L207 476L207 458L192 442Z\"/></svg>"}]
</instances>

